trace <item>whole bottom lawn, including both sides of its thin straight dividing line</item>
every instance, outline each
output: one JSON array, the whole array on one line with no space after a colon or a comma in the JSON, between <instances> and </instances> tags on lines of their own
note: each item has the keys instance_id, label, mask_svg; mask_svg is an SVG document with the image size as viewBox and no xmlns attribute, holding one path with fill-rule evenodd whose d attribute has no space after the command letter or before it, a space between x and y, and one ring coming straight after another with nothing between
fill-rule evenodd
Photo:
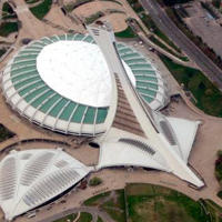
<instances>
[{"instance_id":1,"label":"whole bottom lawn, including both sides of its thin straight dividing line","mask_svg":"<svg viewBox=\"0 0 222 222\"><path fill-rule=\"evenodd\" d=\"M127 221L125 206L129 222L222 222L222 208L214 202L194 201L175 190L148 183L130 183L124 190L89 200L87 205L99 208L117 222Z\"/></svg>"}]
</instances>

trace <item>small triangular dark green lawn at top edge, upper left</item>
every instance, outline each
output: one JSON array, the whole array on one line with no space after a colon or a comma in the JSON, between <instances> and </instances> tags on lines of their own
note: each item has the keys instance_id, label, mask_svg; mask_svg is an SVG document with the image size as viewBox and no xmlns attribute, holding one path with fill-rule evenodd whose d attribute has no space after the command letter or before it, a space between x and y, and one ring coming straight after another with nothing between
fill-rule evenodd
<instances>
[{"instance_id":1,"label":"small triangular dark green lawn at top edge, upper left","mask_svg":"<svg viewBox=\"0 0 222 222\"><path fill-rule=\"evenodd\" d=\"M51 9L51 4L52 0L44 0L38 6L30 8L30 11L34 14L34 17L41 20Z\"/></svg>"}]
</instances>

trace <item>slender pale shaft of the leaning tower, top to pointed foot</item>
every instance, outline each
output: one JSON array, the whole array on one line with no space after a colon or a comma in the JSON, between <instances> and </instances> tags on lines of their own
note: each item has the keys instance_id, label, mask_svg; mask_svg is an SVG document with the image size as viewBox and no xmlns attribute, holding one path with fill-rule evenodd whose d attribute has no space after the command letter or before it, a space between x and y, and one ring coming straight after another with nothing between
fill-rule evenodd
<instances>
[{"instance_id":1,"label":"slender pale shaft of the leaning tower, top to pointed foot","mask_svg":"<svg viewBox=\"0 0 222 222\"><path fill-rule=\"evenodd\" d=\"M173 147L170 145L164 134L160 133L153 127L153 122L155 122L155 120L152 117L153 114L151 113L150 110L144 109L143 104L141 103L141 100L139 100L139 98L137 97L134 89L132 89L131 85L129 84L128 78L125 75L125 70L123 69L120 62L120 58L117 56L115 48L113 47L114 33L112 29L110 28L110 26L107 23L103 23L102 26L93 24L93 26L89 26L88 30L90 34L93 37L94 41L98 43L98 46L100 46L109 63L109 68L112 74L114 75L114 73L117 73L120 80L122 90L125 93L127 100L130 103L131 109L138 122L140 123L140 127L144 132L144 135L148 139L147 145L152 148L155 151L155 153L159 153L160 157L162 157L170 172L174 173L175 175L178 175L179 178L185 181L189 181L190 183L195 184L198 188L203 186L204 183L188 168L183 159L181 159L181 157L173 150ZM150 118L148 118L148 115L150 115ZM107 138L109 137L109 133L107 134ZM149 152L150 148L142 145L140 141L130 142L129 139L132 139L132 137L128 138L128 142L127 142L127 143L131 143L131 147L132 145L135 148L140 147L140 150L145 150L147 152ZM130 152L131 152L130 150L125 152L125 157L129 155ZM152 152L150 153L154 160L155 153L154 154L152 154Z\"/></svg>"}]
</instances>

